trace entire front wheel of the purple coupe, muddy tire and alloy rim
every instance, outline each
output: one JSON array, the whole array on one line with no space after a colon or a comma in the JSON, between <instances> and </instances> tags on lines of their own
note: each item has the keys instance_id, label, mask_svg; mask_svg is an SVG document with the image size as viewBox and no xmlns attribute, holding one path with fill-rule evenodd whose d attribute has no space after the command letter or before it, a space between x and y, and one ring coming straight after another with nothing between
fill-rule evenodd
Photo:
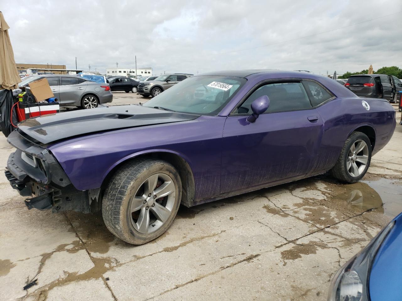
<instances>
[{"instance_id":1,"label":"entire front wheel of the purple coupe, muddy tire and alloy rim","mask_svg":"<svg viewBox=\"0 0 402 301\"><path fill-rule=\"evenodd\" d=\"M102 203L110 232L129 244L145 244L172 224L181 199L181 181L168 162L140 159L113 175Z\"/></svg>"}]
</instances>

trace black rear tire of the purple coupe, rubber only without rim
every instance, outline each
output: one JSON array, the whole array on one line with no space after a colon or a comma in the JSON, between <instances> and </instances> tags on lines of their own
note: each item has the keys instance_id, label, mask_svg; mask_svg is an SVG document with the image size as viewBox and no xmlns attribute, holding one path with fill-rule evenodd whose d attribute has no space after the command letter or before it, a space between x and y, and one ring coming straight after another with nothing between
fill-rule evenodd
<instances>
[{"instance_id":1,"label":"black rear tire of the purple coupe, rubber only without rim","mask_svg":"<svg viewBox=\"0 0 402 301\"><path fill-rule=\"evenodd\" d=\"M349 171L347 169L347 158L348 158L348 153L349 150L357 140L363 140L366 142L368 146L368 160L366 167L364 171L357 177L353 177L351 174L349 174ZM353 132L345 141L345 144L343 145L342 150L340 151L338 161L336 161L336 164L332 169L330 170L330 173L333 177L336 179L345 182L345 183L356 183L361 180L361 178L364 177L364 175L367 172L367 169L369 168L371 161L371 142L370 139L367 137L367 135L363 134L362 132Z\"/></svg>"}]
</instances>

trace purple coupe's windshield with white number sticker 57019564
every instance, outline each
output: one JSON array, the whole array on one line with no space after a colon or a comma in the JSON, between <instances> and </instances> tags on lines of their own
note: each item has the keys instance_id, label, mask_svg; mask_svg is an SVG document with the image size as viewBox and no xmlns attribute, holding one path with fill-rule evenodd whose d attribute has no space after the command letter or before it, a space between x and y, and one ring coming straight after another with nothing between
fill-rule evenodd
<instances>
[{"instance_id":1,"label":"purple coupe's windshield with white number sticker 57019564","mask_svg":"<svg viewBox=\"0 0 402 301\"><path fill-rule=\"evenodd\" d=\"M181 81L144 104L199 115L217 115L246 82L230 76L194 76Z\"/></svg>"}]
</instances>

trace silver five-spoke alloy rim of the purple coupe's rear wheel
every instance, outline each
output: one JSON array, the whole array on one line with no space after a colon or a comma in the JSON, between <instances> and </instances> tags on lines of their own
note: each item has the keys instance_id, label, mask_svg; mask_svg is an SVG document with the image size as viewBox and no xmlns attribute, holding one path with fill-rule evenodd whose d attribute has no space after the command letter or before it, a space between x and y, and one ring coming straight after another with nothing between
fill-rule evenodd
<instances>
[{"instance_id":1,"label":"silver five-spoke alloy rim of the purple coupe's rear wheel","mask_svg":"<svg viewBox=\"0 0 402 301\"><path fill-rule=\"evenodd\" d=\"M348 152L346 168L349 175L358 177L363 173L369 160L369 147L364 140L356 140Z\"/></svg>"}]
</instances>

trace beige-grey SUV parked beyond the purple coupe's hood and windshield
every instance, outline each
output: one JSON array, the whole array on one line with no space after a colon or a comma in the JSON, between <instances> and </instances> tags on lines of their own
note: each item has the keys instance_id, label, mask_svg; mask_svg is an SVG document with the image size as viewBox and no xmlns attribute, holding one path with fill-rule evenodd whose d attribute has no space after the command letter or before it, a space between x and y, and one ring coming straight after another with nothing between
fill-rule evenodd
<instances>
[{"instance_id":1,"label":"beige-grey SUV parked beyond the purple coupe's hood and windshield","mask_svg":"<svg viewBox=\"0 0 402 301\"><path fill-rule=\"evenodd\" d=\"M193 74L187 73L173 73L173 74L164 74L156 77L153 81L142 81L138 84L138 93L142 96L155 97L158 94L161 94L166 89L169 89L173 85L176 85L179 81L190 77Z\"/></svg>"}]
</instances>

